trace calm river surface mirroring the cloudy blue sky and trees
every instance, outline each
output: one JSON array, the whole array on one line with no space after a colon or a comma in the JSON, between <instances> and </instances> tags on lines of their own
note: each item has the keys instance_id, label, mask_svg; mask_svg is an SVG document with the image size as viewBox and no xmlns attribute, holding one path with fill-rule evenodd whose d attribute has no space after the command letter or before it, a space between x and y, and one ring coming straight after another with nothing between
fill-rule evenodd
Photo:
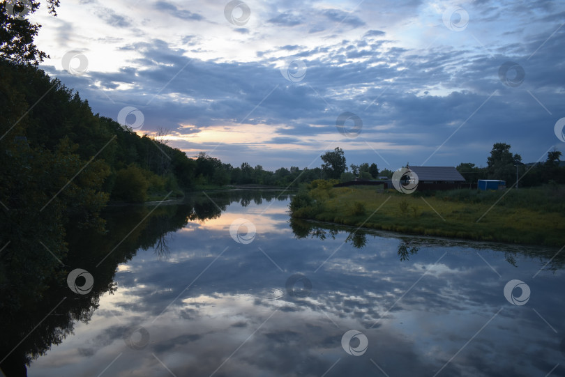
<instances>
[{"instance_id":1,"label":"calm river surface mirroring the cloudy blue sky and trees","mask_svg":"<svg viewBox=\"0 0 565 377\"><path fill-rule=\"evenodd\" d=\"M6 376L565 376L565 252L289 223L279 194L70 232L93 287L2 323Z\"/></svg>"}]
</instances>

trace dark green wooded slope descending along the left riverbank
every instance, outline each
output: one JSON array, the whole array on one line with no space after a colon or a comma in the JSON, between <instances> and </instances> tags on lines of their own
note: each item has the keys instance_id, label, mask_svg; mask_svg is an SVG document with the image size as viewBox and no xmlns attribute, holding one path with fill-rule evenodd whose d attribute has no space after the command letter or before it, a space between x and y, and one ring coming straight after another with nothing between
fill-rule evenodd
<instances>
[{"instance_id":1,"label":"dark green wooded slope descending along the left riverbank","mask_svg":"<svg viewBox=\"0 0 565 377\"><path fill-rule=\"evenodd\" d=\"M140 136L111 118L93 114L88 100L36 66L0 60L0 68L0 142L7 153L1 167L4 190L0 200L8 208L19 206L22 194L7 187L15 188L27 180L31 186L40 183L37 188L45 193L45 202L70 182L57 199L66 201L69 195L81 192L83 204L90 201L91 206L99 208L107 200L142 202L162 199L169 192L169 197L175 197L225 185L296 187L335 174L331 164L268 171L247 162L233 167L204 152L189 157L167 145L168 132L163 128L157 137ZM337 150L342 155L340 148ZM336 151L322 157L336 155ZM370 178L378 174L376 164L361 164L356 169ZM29 176L24 178L13 171L26 171ZM80 198L73 200L78 208Z\"/></svg>"}]
</instances>

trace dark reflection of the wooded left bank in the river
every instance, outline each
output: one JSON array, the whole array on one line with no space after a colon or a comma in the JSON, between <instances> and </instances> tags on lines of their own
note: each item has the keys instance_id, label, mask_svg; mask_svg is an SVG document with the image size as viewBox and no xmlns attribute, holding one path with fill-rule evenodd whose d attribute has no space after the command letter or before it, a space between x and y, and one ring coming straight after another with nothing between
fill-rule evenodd
<instances>
[{"instance_id":1,"label":"dark reflection of the wooded left bank in the river","mask_svg":"<svg viewBox=\"0 0 565 377\"><path fill-rule=\"evenodd\" d=\"M57 236L60 229L54 226L55 221L22 219L22 224L33 224L36 233L49 243L45 241L42 245L41 239L33 243L30 240L13 242L0 253L0 369L3 374L27 376L27 365L45 355L53 344L61 344L73 333L77 321L89 323L98 309L100 297L116 291L117 266L132 259L138 249L154 249L158 259L167 259L170 254L167 241L189 221L220 217L234 202L247 205L250 201L289 199L287 192L278 190L231 190L208 192L208 195L213 201L204 194L192 194L181 202L159 203L158 208L155 203L109 206L103 212L105 233L81 229L70 221L65 239ZM61 244L55 245L54 240ZM44 245L50 250L66 246L68 253L59 263ZM9 258L13 255L28 255L24 268L13 270ZM22 280L35 282L31 274L44 268L46 261L53 262L54 267L42 284L20 284ZM82 268L94 277L92 290L86 295L73 293L67 286L67 275L75 268ZM130 328L124 326L119 330L126 334Z\"/></svg>"}]
</instances>

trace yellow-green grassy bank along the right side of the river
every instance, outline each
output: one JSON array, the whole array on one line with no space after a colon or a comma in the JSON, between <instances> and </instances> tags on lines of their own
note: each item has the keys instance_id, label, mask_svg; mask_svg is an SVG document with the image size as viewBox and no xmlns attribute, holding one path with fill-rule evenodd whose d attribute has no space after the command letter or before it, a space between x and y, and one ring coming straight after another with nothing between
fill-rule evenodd
<instances>
[{"instance_id":1,"label":"yellow-green grassy bank along the right side of the river","mask_svg":"<svg viewBox=\"0 0 565 377\"><path fill-rule=\"evenodd\" d=\"M314 181L290 204L295 218L372 229L506 243L565 245L565 187L506 192L401 194ZM502 199L501 199L502 197Z\"/></svg>"}]
</instances>

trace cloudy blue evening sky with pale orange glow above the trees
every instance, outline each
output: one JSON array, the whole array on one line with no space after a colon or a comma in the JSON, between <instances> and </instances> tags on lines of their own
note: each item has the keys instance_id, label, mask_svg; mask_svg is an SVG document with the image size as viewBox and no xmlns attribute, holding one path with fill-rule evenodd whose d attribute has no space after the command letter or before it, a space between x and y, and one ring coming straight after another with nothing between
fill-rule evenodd
<instances>
[{"instance_id":1,"label":"cloudy blue evening sky with pale orange glow above the trees","mask_svg":"<svg viewBox=\"0 0 565 377\"><path fill-rule=\"evenodd\" d=\"M61 1L29 18L93 112L239 166L565 153L559 1ZM561 123L558 123L561 124ZM564 123L565 124L565 123ZM559 138L560 137L560 138Z\"/></svg>"}]
</instances>

